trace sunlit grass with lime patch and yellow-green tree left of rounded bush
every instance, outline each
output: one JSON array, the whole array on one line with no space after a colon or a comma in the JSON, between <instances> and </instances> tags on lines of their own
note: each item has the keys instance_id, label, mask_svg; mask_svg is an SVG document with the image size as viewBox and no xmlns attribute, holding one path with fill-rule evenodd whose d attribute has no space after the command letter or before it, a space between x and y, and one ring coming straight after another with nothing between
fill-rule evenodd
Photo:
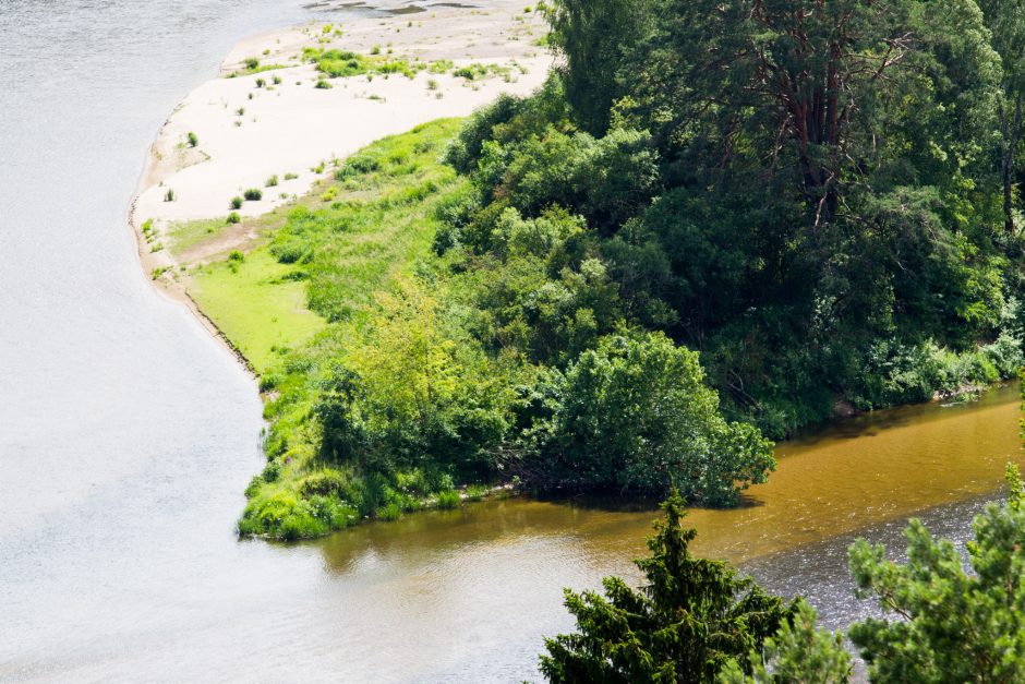
<instances>
[{"instance_id":1,"label":"sunlit grass with lime patch and yellow-green tree left of rounded bush","mask_svg":"<svg viewBox=\"0 0 1025 684\"><path fill-rule=\"evenodd\" d=\"M334 181L334 203L304 197L261 219L265 243L195 274L191 292L268 397L273 469L246 490L240 533L316 537L447 505L439 494L457 480L494 477L482 459L504 424L505 375L465 343L430 273L414 273L436 205L465 187L437 160L457 127L361 151Z\"/></svg>"}]
</instances>

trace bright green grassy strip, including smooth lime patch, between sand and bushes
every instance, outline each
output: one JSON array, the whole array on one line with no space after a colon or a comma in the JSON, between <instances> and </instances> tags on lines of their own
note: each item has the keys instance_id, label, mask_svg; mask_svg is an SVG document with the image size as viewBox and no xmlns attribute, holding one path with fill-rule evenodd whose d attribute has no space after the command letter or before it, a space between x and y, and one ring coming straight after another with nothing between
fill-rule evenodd
<instances>
[{"instance_id":1,"label":"bright green grassy strip, including smooth lime patch, between sand and bushes","mask_svg":"<svg viewBox=\"0 0 1025 684\"><path fill-rule=\"evenodd\" d=\"M458 128L438 121L374 143L287 216L268 217L243 261L194 271L190 292L269 398L268 466L246 490L242 533L313 537L437 493L418 472L383 480L322 463L311 408L373 293L431 254L436 206L466 182L438 161Z\"/></svg>"}]
</instances>

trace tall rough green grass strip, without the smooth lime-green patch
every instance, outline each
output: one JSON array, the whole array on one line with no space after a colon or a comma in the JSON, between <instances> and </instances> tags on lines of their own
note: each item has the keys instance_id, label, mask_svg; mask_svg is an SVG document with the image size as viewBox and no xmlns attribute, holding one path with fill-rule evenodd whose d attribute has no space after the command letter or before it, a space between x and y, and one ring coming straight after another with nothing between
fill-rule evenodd
<instances>
[{"instance_id":1,"label":"tall rough green grass strip, without the smooth lime-green patch","mask_svg":"<svg viewBox=\"0 0 1025 684\"><path fill-rule=\"evenodd\" d=\"M262 248L292 267L290 280L305 285L310 308L330 325L302 348L280 350L261 379L273 397L265 408L268 465L246 490L240 533L309 538L432 501L453 505L449 472L347 458L326 445L324 425L345 419L333 412L342 391L335 370L369 349L375 292L430 254L435 206L463 184L438 161L457 128L433 123L362 151L336 175L335 202L291 209Z\"/></svg>"}]
</instances>

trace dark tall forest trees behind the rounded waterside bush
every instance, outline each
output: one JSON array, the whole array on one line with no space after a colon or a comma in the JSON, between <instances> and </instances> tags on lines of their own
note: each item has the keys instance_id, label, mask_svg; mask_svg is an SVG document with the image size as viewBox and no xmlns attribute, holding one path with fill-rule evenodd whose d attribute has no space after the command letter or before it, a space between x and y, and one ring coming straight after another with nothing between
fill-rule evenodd
<instances>
[{"instance_id":1,"label":"dark tall forest trees behind the rounded waterside bush","mask_svg":"<svg viewBox=\"0 0 1025 684\"><path fill-rule=\"evenodd\" d=\"M531 360L565 368L616 328L662 331L701 350L728 416L773 436L837 399L1006 377L1013 4L558 0L554 77L449 147L477 192L435 249L495 274L482 308ZM571 237L536 261L509 249L558 213ZM605 280L579 307L567 276L584 262ZM570 333L577 314L590 335Z\"/></svg>"}]
</instances>

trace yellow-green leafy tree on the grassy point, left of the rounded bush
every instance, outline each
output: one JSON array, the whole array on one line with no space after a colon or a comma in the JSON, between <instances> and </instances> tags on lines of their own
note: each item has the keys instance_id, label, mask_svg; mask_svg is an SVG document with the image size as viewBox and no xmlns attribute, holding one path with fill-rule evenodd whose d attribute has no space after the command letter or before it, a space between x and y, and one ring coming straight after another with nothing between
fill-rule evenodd
<instances>
[{"instance_id":1,"label":"yellow-green leafy tree on the grassy point, left of the rounded bush","mask_svg":"<svg viewBox=\"0 0 1025 684\"><path fill-rule=\"evenodd\" d=\"M449 329L438 300L413 278L379 292L364 334L322 383L321 451L378 472L399 468L491 477L508 429L498 363Z\"/></svg>"}]
</instances>

